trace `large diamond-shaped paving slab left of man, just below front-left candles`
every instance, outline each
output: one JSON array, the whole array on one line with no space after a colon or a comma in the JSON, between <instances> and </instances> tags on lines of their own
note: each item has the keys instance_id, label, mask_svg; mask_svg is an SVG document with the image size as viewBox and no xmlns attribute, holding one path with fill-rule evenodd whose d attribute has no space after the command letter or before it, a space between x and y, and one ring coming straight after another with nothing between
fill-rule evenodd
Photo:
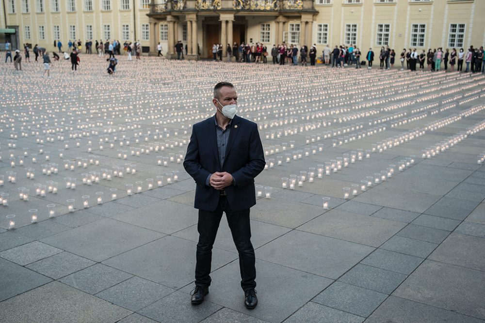
<instances>
[{"instance_id":1,"label":"large diamond-shaped paving slab left of man, just below front-left candles","mask_svg":"<svg viewBox=\"0 0 485 323\"><path fill-rule=\"evenodd\" d=\"M41 241L94 261L103 261L142 246L162 233L105 218Z\"/></svg>"}]
</instances>

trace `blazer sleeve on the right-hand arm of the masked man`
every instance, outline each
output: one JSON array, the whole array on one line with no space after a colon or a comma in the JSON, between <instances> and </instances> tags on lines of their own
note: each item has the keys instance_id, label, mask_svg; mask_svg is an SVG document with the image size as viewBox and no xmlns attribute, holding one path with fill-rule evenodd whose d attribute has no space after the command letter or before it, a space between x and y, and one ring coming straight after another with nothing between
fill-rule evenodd
<instances>
[{"instance_id":1,"label":"blazer sleeve on the right-hand arm of the masked man","mask_svg":"<svg viewBox=\"0 0 485 323\"><path fill-rule=\"evenodd\" d=\"M235 187L242 187L254 183L254 178L264 169L266 161L264 160L263 145L259 138L258 126L254 124L249 140L249 157L247 164L233 172Z\"/></svg>"}]
</instances>

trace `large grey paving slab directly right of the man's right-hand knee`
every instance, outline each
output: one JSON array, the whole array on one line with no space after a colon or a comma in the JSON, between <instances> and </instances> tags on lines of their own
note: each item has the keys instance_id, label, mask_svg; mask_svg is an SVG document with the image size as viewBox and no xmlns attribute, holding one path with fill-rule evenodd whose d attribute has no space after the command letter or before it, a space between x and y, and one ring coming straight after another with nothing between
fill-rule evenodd
<instances>
[{"instance_id":1,"label":"large grey paving slab directly right of the man's right-hand knee","mask_svg":"<svg viewBox=\"0 0 485 323\"><path fill-rule=\"evenodd\" d=\"M260 247L256 258L337 279L374 250L373 247L291 231ZM344 253L346 257L342 258Z\"/></svg>"}]
</instances>

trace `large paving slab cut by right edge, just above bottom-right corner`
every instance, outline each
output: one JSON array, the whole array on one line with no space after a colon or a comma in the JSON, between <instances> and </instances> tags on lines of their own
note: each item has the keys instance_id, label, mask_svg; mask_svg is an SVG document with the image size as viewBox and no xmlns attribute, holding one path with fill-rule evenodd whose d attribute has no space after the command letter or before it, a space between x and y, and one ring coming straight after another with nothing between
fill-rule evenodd
<instances>
[{"instance_id":1,"label":"large paving slab cut by right edge, just above bottom-right corner","mask_svg":"<svg viewBox=\"0 0 485 323\"><path fill-rule=\"evenodd\" d=\"M485 273L426 260L394 296L485 319Z\"/></svg>"}]
</instances>

